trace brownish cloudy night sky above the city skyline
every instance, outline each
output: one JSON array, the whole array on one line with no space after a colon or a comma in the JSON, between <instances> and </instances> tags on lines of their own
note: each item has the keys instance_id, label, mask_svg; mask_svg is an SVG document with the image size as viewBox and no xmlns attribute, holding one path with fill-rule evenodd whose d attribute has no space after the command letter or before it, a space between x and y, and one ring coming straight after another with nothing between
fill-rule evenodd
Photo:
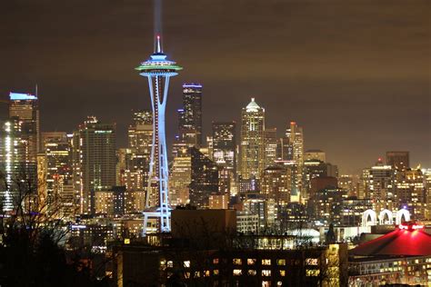
<instances>
[{"instance_id":1,"label":"brownish cloudy night sky above the city skyline","mask_svg":"<svg viewBox=\"0 0 431 287\"><path fill-rule=\"evenodd\" d=\"M165 0L171 83L168 143L181 85L204 85L205 133L250 97L278 135L294 120L306 149L357 173L388 150L431 167L430 1ZM86 115L117 124L149 107L134 70L153 50L150 0L8 0L0 4L0 98L39 86L43 131Z\"/></svg>"}]
</instances>

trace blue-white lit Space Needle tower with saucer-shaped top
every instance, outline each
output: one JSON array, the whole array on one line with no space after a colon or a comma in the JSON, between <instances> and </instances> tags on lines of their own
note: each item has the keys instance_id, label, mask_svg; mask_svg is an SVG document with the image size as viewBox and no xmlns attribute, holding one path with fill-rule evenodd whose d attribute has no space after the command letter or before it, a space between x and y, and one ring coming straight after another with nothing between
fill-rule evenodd
<instances>
[{"instance_id":1,"label":"blue-white lit Space Needle tower with saucer-shaped top","mask_svg":"<svg viewBox=\"0 0 431 287\"><path fill-rule=\"evenodd\" d=\"M151 148L151 161L148 172L148 187L145 199L144 231L147 231L148 218L157 220L156 229L159 232L170 232L170 210L168 200L168 177L167 152L165 140L165 107L169 80L182 68L169 61L163 53L160 35L155 35L155 51L150 58L141 63L136 70L148 79L151 107L153 109L153 144ZM155 189L159 194L158 203L149 204L150 194Z\"/></svg>"}]
</instances>

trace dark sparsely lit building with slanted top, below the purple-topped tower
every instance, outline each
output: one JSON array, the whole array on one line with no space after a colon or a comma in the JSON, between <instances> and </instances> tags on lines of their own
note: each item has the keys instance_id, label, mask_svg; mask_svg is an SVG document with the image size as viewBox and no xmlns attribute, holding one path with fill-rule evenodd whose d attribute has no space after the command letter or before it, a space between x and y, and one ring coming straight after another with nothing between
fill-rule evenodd
<instances>
[{"instance_id":1,"label":"dark sparsely lit building with slanted top, below the purple-topped tower","mask_svg":"<svg viewBox=\"0 0 431 287\"><path fill-rule=\"evenodd\" d=\"M198 208L209 207L209 196L218 194L218 167L204 153L195 147L190 148L191 155L191 183L190 204Z\"/></svg>"}]
</instances>

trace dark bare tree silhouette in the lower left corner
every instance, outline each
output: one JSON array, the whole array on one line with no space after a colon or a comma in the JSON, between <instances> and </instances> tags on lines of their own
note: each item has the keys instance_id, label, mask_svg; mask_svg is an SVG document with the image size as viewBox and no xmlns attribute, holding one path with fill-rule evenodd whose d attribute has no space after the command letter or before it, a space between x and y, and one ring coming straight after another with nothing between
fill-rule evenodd
<instances>
[{"instance_id":1,"label":"dark bare tree silhouette in the lower left corner","mask_svg":"<svg viewBox=\"0 0 431 287\"><path fill-rule=\"evenodd\" d=\"M56 218L62 207L49 206L37 194L34 180L25 173L6 179L0 173L0 194L13 194L13 210L0 198L0 285L107 286L97 282L82 262L70 258L62 247L68 226Z\"/></svg>"}]
</instances>

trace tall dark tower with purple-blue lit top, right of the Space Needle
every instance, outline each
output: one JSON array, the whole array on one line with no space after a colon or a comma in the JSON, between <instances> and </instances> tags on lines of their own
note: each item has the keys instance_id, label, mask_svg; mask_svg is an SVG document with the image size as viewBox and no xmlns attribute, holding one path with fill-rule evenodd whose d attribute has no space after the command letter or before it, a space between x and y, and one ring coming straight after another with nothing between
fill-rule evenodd
<instances>
[{"instance_id":1,"label":"tall dark tower with purple-blue lit top, right of the Space Needle","mask_svg":"<svg viewBox=\"0 0 431 287\"><path fill-rule=\"evenodd\" d=\"M202 146L202 84L183 84L183 109L178 112L179 140Z\"/></svg>"}]
</instances>

